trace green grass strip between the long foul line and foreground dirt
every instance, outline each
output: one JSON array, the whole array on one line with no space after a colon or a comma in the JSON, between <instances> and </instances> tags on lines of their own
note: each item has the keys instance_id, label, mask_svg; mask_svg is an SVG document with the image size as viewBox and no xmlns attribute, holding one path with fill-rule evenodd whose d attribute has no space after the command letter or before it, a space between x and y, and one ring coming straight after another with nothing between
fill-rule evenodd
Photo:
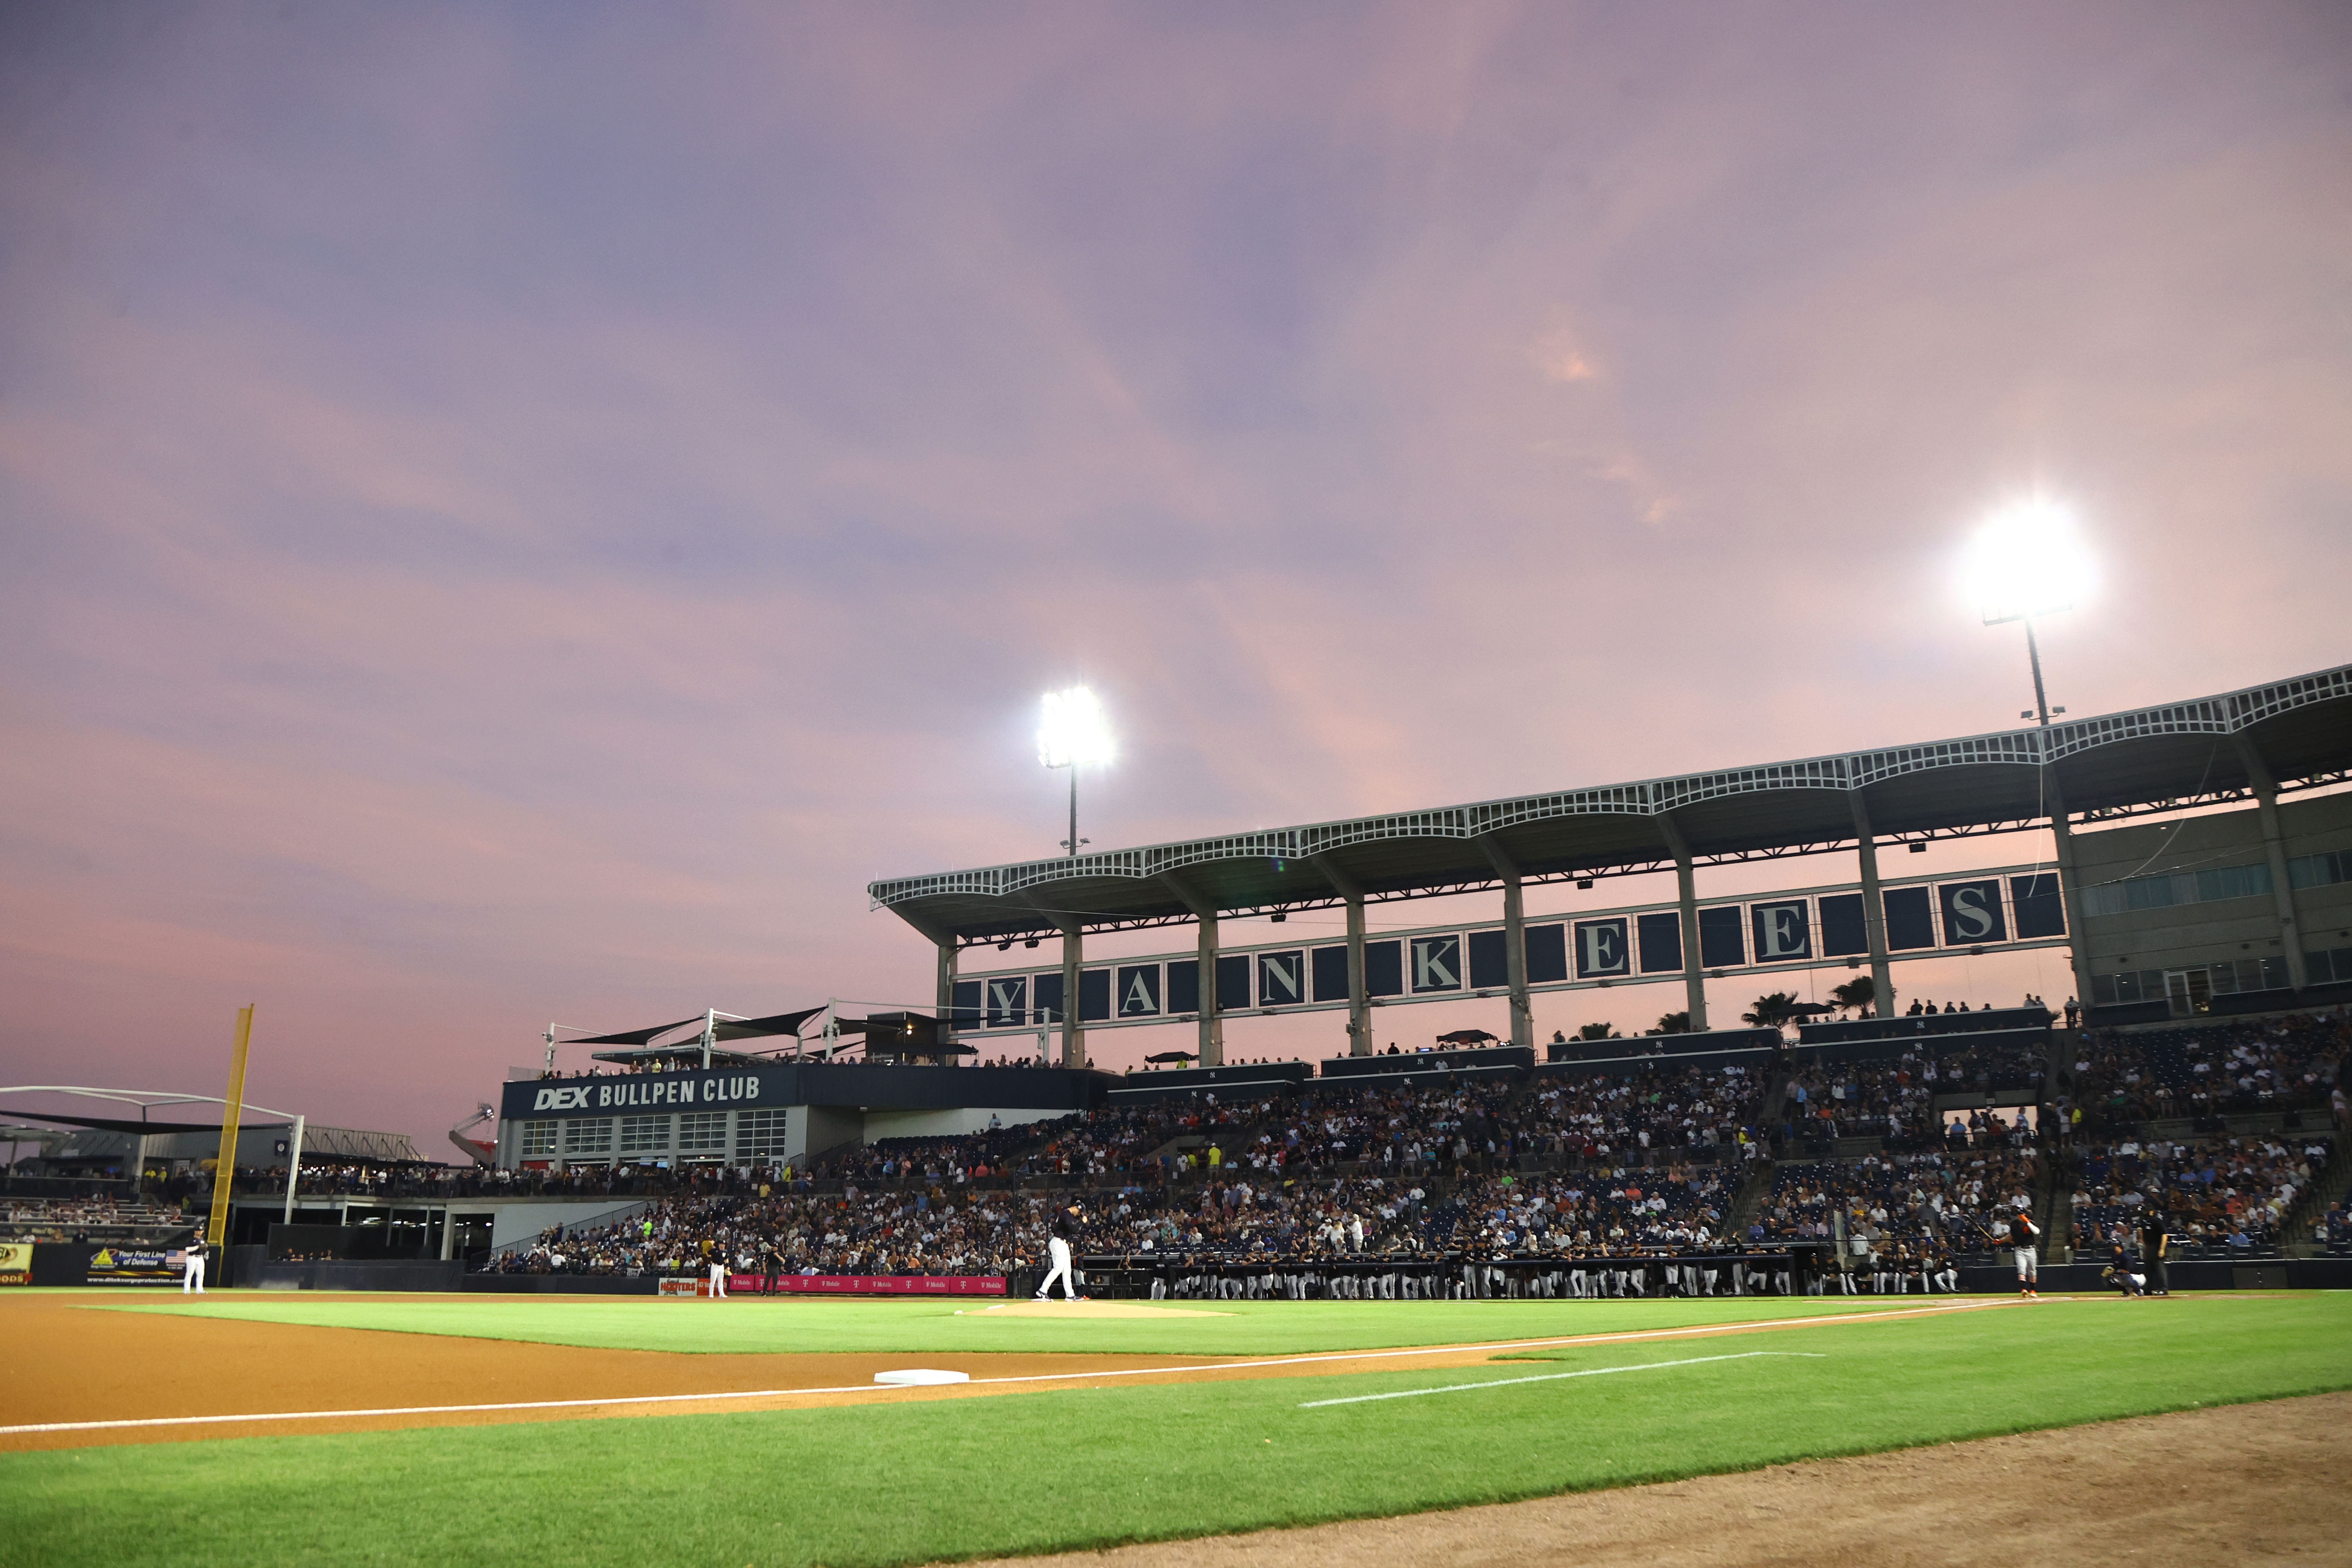
<instances>
[{"instance_id":1,"label":"green grass strip between the long foul line and foreground dirt","mask_svg":"<svg viewBox=\"0 0 2352 1568\"><path fill-rule=\"evenodd\" d=\"M1308 1408L1715 1354L1748 1359ZM2044 1300L1416 1373L14 1453L0 1455L0 1561L880 1568L2340 1387L2345 1295Z\"/></svg>"}]
</instances>

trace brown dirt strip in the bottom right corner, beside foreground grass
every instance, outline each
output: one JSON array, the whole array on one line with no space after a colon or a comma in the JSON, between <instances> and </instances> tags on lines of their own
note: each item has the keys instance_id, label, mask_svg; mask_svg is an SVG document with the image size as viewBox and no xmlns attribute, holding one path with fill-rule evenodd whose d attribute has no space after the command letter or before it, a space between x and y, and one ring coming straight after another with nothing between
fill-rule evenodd
<instances>
[{"instance_id":1,"label":"brown dirt strip in the bottom right corner, beside foreground grass","mask_svg":"<svg viewBox=\"0 0 2352 1568\"><path fill-rule=\"evenodd\" d=\"M2352 1394L988 1568L2343 1563Z\"/></svg>"}]
</instances>

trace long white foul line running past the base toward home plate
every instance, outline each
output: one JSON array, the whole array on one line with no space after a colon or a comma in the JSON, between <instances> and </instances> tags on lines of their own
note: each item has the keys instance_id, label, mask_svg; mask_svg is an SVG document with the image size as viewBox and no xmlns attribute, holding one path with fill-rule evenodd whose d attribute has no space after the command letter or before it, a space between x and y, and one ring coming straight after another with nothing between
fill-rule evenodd
<instances>
[{"instance_id":1,"label":"long white foul line running past the base toward home plate","mask_svg":"<svg viewBox=\"0 0 2352 1568\"><path fill-rule=\"evenodd\" d=\"M1411 1349L1338 1349L1315 1356L1270 1356L1265 1361L1195 1361L1190 1366L1122 1366L1091 1373L1028 1373L1021 1378L974 1378L967 1389L1007 1382L1073 1382L1080 1378L1164 1378L1169 1373L1247 1373L1261 1366L1317 1366L1324 1361L1395 1361L1402 1356L1454 1356L1472 1349L1550 1349L1559 1345L1630 1345L1635 1340L1691 1340L1719 1333L1769 1331L1769 1328L1820 1328L1830 1324L1884 1324L1905 1316L1943 1316L1947 1312L1983 1312L1987 1307L2013 1307L2016 1298L1952 1302L1947 1307L1898 1307L1893 1312L1856 1309L1830 1312L1825 1316L1748 1319L1743 1324L1689 1324L1684 1328L1632 1328L1621 1333L1571 1333L1550 1340L1491 1340L1486 1345L1423 1345ZM139 1420L52 1420L21 1427L0 1427L0 1436L21 1432L118 1432L125 1427L214 1427L263 1420L358 1420L374 1415L473 1415L494 1410L600 1410L604 1406L668 1406L701 1403L713 1399L793 1399L802 1394L889 1394L870 1382L851 1382L833 1389L724 1389L715 1394L619 1394L609 1399L517 1399L482 1406L386 1406L381 1410L263 1410L256 1415L146 1415Z\"/></svg>"}]
</instances>

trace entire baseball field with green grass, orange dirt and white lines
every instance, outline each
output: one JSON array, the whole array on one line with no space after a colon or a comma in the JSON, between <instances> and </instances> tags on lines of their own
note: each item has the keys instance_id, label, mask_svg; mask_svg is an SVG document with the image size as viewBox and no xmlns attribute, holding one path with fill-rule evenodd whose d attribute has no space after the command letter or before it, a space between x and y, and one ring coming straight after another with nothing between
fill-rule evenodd
<instances>
[{"instance_id":1,"label":"entire baseball field with green grass, orange dirt and white lines","mask_svg":"<svg viewBox=\"0 0 2352 1568\"><path fill-rule=\"evenodd\" d=\"M0 1345L5 1563L854 1568L1124 1542L1190 1542L1145 1547L1152 1563L1571 1542L1588 1563L1842 1561L1820 1552L1870 1497L1976 1528L2074 1509L2096 1537L2114 1476L2338 1552L2352 1530L2352 1298L2333 1293L957 1309L14 1291ZM969 1380L875 1382L903 1371ZM2159 1413L2185 1415L2129 1420ZM1651 1486L1693 1476L1719 1481ZM1889 1519L1872 1528L1905 1528ZM1261 1530L1289 1535L1204 1540Z\"/></svg>"}]
</instances>

